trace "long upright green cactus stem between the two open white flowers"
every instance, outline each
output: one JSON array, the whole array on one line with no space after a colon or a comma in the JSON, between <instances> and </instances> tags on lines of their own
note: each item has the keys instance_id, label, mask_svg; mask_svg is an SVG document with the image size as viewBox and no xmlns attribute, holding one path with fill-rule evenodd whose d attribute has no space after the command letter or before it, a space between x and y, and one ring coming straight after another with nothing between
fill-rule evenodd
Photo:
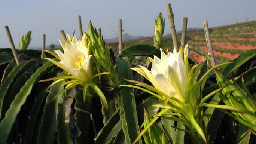
<instances>
[{"instance_id":1,"label":"long upright green cactus stem between the two open white flowers","mask_svg":"<svg viewBox=\"0 0 256 144\"><path fill-rule=\"evenodd\" d=\"M130 63L122 60L121 58L117 58L116 65L119 77L133 79ZM124 79L123 82L126 83ZM132 143L138 136L139 128L134 90L132 88L122 87L119 92L118 104L120 107L122 128L125 133L125 141L126 143ZM141 143L142 142L140 140L139 144Z\"/></svg>"}]
</instances>

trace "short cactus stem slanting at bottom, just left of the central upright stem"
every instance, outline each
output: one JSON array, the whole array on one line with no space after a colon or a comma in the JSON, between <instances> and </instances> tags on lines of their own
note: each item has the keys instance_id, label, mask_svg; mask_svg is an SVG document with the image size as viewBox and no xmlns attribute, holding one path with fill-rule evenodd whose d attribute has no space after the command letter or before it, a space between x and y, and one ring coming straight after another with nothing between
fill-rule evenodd
<instances>
[{"instance_id":1,"label":"short cactus stem slanting at bottom, just left of the central upright stem","mask_svg":"<svg viewBox=\"0 0 256 144\"><path fill-rule=\"evenodd\" d=\"M122 122L119 116L119 110L117 110L98 133L95 144L108 144L115 133L120 131L121 126Z\"/></svg>"}]
</instances>

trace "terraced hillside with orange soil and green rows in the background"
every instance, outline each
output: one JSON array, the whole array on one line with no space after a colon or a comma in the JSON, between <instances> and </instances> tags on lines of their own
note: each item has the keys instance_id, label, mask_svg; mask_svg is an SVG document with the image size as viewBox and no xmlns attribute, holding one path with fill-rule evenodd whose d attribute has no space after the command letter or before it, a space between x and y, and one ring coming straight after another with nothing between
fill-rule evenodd
<instances>
[{"instance_id":1,"label":"terraced hillside with orange soil and green rows in the background","mask_svg":"<svg viewBox=\"0 0 256 144\"><path fill-rule=\"evenodd\" d=\"M256 38L253 30L256 30L256 21L210 28L216 61L231 61L246 50L255 49ZM165 31L165 33L168 33L168 31ZM177 39L180 38L181 34L177 34ZM198 63L204 61L205 54L208 52L204 30L188 31L186 42L189 42L189 57ZM152 45L153 37L124 42L125 47L134 44ZM164 37L163 48L166 46L173 49L171 36Z\"/></svg>"}]
</instances>

